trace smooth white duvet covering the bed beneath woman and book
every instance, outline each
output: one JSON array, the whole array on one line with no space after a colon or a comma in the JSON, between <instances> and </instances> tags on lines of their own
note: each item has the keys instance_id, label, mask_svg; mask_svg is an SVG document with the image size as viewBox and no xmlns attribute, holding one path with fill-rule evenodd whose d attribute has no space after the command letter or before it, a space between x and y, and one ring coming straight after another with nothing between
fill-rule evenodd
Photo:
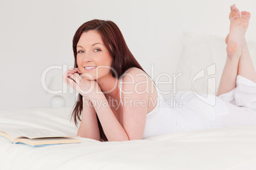
<instances>
[{"instance_id":1,"label":"smooth white duvet covering the bed beneath woman and book","mask_svg":"<svg viewBox=\"0 0 256 170\"><path fill-rule=\"evenodd\" d=\"M0 112L0 126L76 135L71 108ZM256 169L256 126L166 134L145 140L29 147L0 137L0 169Z\"/></svg>"}]
</instances>

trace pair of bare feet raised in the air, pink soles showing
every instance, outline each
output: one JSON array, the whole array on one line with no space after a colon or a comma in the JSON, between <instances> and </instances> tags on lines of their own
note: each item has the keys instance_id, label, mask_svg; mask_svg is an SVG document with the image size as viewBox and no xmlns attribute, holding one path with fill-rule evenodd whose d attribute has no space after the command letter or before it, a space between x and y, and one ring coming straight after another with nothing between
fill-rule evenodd
<instances>
[{"instance_id":1,"label":"pair of bare feet raised in the air, pink soles showing","mask_svg":"<svg viewBox=\"0 0 256 170\"><path fill-rule=\"evenodd\" d=\"M239 58L245 43L245 32L248 28L250 13L242 11L240 15L238 8L232 5L229 19L231 20L231 26L226 38L227 56L229 58Z\"/></svg>"}]
</instances>

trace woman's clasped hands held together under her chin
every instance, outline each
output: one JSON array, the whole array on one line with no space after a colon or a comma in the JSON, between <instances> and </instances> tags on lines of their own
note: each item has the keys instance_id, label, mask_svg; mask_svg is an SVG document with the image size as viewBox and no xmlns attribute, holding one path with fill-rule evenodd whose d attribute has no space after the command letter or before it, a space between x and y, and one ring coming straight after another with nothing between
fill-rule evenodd
<instances>
[{"instance_id":1,"label":"woman's clasped hands held together under her chin","mask_svg":"<svg viewBox=\"0 0 256 170\"><path fill-rule=\"evenodd\" d=\"M87 80L78 68L69 69L63 75L63 81L80 93L80 95L89 99L92 99L97 93L101 93L99 84L94 80Z\"/></svg>"}]
</instances>

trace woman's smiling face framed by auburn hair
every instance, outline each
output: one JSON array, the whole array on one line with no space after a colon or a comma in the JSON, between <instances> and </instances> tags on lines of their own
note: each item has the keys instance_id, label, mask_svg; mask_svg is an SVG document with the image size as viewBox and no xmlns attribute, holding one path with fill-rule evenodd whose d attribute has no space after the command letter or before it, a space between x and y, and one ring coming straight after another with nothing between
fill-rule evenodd
<instances>
[{"instance_id":1,"label":"woman's smiling face framed by auburn hair","mask_svg":"<svg viewBox=\"0 0 256 170\"><path fill-rule=\"evenodd\" d=\"M110 76L112 58L96 30L83 32L76 46L76 62L89 80Z\"/></svg>"}]
</instances>

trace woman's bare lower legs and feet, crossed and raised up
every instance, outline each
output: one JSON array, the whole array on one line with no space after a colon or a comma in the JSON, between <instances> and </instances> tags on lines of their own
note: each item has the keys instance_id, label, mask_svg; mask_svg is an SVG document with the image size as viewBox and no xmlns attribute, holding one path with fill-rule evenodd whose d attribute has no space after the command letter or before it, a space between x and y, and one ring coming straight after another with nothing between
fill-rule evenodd
<instances>
[{"instance_id":1,"label":"woman's bare lower legs and feet, crossed and raised up","mask_svg":"<svg viewBox=\"0 0 256 170\"><path fill-rule=\"evenodd\" d=\"M236 88L237 75L256 82L256 72L245 41L250 13L246 11L239 13L238 8L233 5L231 6L229 19L231 20L231 26L226 39L227 61L222 73L217 96L228 93Z\"/></svg>"}]
</instances>

